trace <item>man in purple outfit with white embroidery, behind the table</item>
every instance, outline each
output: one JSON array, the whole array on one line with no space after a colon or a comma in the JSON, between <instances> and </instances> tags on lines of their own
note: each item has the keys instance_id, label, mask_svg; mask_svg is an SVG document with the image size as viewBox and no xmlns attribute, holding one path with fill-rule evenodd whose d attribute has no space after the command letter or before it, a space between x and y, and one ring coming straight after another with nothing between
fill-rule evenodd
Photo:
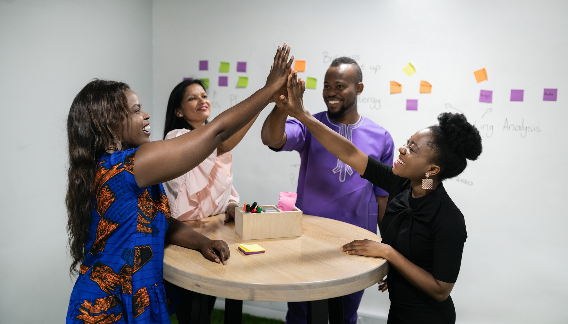
<instances>
[{"instance_id":1,"label":"man in purple outfit with white embroidery, behind the table","mask_svg":"<svg viewBox=\"0 0 568 324\"><path fill-rule=\"evenodd\" d=\"M367 155L392 165L394 143L385 128L357 113L363 91L361 68L348 57L333 60L325 73L323 98L327 111L314 117L349 139ZM274 107L262 125L262 143L274 151L298 151L302 162L296 206L317 215L360 226L376 233L385 213L388 193L361 178L349 165L329 153L296 119ZM338 246L339 248L339 246ZM346 256L348 257L348 256ZM364 290L343 296L344 322L357 323ZM306 302L289 302L288 324L307 322Z\"/></svg>"}]
</instances>

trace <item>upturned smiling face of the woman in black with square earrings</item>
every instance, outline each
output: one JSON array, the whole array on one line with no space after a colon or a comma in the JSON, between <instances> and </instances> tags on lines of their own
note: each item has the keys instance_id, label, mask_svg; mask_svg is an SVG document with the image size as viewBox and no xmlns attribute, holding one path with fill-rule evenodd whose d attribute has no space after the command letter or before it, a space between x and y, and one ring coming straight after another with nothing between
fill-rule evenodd
<instances>
[{"instance_id":1,"label":"upturned smiling face of the woman in black with square earrings","mask_svg":"<svg viewBox=\"0 0 568 324\"><path fill-rule=\"evenodd\" d=\"M392 167L392 173L411 181L420 181L425 173L435 176L440 167L432 163L436 153L428 145L432 140L432 131L429 128L419 130L407 140L406 144L398 149L399 155Z\"/></svg>"}]
</instances>

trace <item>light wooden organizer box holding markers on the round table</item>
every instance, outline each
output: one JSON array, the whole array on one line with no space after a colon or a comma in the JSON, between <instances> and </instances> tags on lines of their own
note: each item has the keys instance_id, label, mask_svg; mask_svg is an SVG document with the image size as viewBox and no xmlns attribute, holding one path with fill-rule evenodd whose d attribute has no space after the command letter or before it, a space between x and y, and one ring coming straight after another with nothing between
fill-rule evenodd
<instances>
[{"instance_id":1,"label":"light wooden organizer box holding markers on the round table","mask_svg":"<svg viewBox=\"0 0 568 324\"><path fill-rule=\"evenodd\" d=\"M243 206L235 208L235 232L243 240L288 238L302 236L302 210L282 211L274 205L275 213L245 213Z\"/></svg>"}]
</instances>

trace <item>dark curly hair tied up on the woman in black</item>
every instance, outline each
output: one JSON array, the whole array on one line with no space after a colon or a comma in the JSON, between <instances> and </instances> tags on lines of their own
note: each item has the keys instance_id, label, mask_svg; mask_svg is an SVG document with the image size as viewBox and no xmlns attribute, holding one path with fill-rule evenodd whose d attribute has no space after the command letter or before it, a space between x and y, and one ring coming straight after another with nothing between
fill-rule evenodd
<instances>
[{"instance_id":1,"label":"dark curly hair tied up on the woman in black","mask_svg":"<svg viewBox=\"0 0 568 324\"><path fill-rule=\"evenodd\" d=\"M467 122L465 115L442 113L438 122L428 127L433 133L428 146L435 152L432 163L440 166L437 180L442 181L460 175L467 160L477 160L482 146L479 130Z\"/></svg>"}]
</instances>

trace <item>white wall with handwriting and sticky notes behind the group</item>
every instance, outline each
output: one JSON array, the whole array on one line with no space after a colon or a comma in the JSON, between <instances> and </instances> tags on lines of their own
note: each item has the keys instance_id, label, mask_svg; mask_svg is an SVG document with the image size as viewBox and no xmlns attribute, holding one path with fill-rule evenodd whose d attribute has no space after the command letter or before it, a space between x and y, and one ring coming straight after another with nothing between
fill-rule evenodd
<instances>
[{"instance_id":1,"label":"white wall with handwriting and sticky notes behind the group","mask_svg":"<svg viewBox=\"0 0 568 324\"><path fill-rule=\"evenodd\" d=\"M214 117L264 85L286 41L306 60L299 76L318 80L304 94L317 113L329 63L350 56L363 70L358 111L389 130L396 147L444 111L462 111L481 131L479 160L445 182L469 236L452 292L457 321L565 322L566 14L565 1L156 1L152 136L160 139L169 93L183 77L210 78ZM207 71L199 60L208 60ZM218 72L221 61L229 73ZM237 61L247 62L246 73L236 72ZM402 72L408 62L412 77ZM481 68L488 80L477 83ZM229 86L218 86L219 76ZM236 88L239 76L249 78L247 88ZM421 80L431 94L419 93ZM390 94L390 81L402 93ZM557 101L542 100L545 88L558 89ZM509 101L511 89L524 89L524 101ZM492 103L479 102L480 90L493 91ZM407 111L406 99L417 99L418 110ZM298 153L272 152L260 140L271 109L233 150L243 201L274 203L296 189ZM388 297L376 290L367 289L360 313L385 317Z\"/></svg>"}]
</instances>

